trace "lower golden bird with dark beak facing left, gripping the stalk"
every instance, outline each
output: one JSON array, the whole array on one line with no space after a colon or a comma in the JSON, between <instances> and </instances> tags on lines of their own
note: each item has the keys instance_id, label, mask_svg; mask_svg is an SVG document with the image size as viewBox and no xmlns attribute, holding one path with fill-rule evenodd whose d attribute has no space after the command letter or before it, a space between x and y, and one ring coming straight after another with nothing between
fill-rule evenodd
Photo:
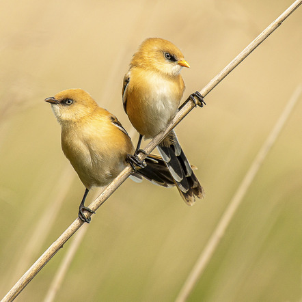
<instances>
[{"instance_id":1,"label":"lower golden bird with dark beak facing left, gripping the stalk","mask_svg":"<svg viewBox=\"0 0 302 302\"><path fill-rule=\"evenodd\" d=\"M83 211L93 212L84 205L89 190L107 186L127 163L137 167L132 175L134 180L139 181L143 176L163 187L174 186L161 157L148 156L146 166L137 161L137 157L131 155L134 146L122 124L84 90L64 90L45 101L51 103L61 124L62 150L86 187L79 206L81 220L90 223Z\"/></svg>"}]
</instances>

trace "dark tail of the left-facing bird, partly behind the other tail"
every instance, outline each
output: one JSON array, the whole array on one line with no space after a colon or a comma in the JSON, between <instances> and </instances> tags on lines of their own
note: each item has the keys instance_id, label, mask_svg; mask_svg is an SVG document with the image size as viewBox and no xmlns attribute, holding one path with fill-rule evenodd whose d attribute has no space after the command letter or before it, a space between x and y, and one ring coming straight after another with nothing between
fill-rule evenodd
<instances>
[{"instance_id":1,"label":"dark tail of the left-facing bird, partly behind the other tail","mask_svg":"<svg viewBox=\"0 0 302 302\"><path fill-rule=\"evenodd\" d=\"M146 157L145 161L147 166L143 169L137 169L135 173L130 176L132 180L141 182L141 176L143 176L147 180L150 180L150 182L163 187L175 186L174 179L161 156L150 154Z\"/></svg>"}]
</instances>

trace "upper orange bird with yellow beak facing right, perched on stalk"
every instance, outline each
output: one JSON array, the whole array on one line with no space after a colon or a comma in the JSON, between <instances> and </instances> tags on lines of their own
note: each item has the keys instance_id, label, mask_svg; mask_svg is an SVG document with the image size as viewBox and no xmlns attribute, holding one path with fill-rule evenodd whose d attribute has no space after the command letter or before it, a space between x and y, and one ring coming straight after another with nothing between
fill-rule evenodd
<instances>
[{"instance_id":1,"label":"upper orange bird with yellow beak facing right, perched on stalk","mask_svg":"<svg viewBox=\"0 0 302 302\"><path fill-rule=\"evenodd\" d=\"M122 98L124 110L139 132L136 154L142 151L139 147L143 137L151 139L158 135L176 115L184 94L184 81L180 75L182 67L190 67L184 55L174 44L161 38L144 40L133 55L124 77ZM205 104L199 92L189 98L200 107ZM204 197L204 190L174 131L167 135L158 149L184 202L191 206L195 196Z\"/></svg>"}]
</instances>

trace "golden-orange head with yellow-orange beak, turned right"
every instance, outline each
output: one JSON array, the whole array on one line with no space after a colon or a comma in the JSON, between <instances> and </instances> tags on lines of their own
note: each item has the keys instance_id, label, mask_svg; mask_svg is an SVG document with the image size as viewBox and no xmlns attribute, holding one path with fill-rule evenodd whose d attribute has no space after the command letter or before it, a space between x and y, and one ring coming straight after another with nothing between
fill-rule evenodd
<instances>
[{"instance_id":1,"label":"golden-orange head with yellow-orange beak, turned right","mask_svg":"<svg viewBox=\"0 0 302 302\"><path fill-rule=\"evenodd\" d=\"M156 69L169 76L180 74L182 67L190 68L182 52L171 42L161 38L148 38L133 55L133 66Z\"/></svg>"}]
</instances>

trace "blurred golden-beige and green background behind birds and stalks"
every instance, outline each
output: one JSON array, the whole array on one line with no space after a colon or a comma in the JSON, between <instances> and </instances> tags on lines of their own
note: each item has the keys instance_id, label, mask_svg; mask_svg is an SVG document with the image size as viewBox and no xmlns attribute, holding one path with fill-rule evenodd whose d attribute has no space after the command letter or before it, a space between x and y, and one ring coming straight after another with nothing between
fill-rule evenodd
<instances>
[{"instance_id":1,"label":"blurred golden-beige and green background behind birds and stalks","mask_svg":"<svg viewBox=\"0 0 302 302\"><path fill-rule=\"evenodd\" d=\"M81 87L137 134L122 79L150 37L178 46L186 98L288 0L1 1L0 297L77 217L84 192L44 98ZM55 301L174 301L262 143L301 84L299 8L176 132L206 199L127 180L92 217ZM251 184L189 301L301 301L302 103ZM97 193L98 190L95 190ZM92 200L90 195L87 204ZM43 301L70 242L16 301Z\"/></svg>"}]
</instances>

